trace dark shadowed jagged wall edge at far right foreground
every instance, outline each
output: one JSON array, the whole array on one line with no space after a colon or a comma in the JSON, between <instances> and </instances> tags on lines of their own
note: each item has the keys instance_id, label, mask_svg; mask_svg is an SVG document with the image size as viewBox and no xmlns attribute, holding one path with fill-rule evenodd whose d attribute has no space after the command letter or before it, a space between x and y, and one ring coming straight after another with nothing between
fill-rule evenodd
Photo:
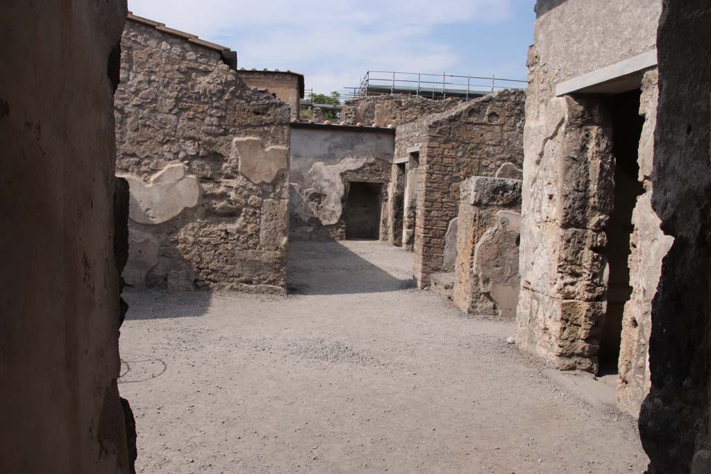
<instances>
[{"instance_id":1,"label":"dark shadowed jagged wall edge at far right foreground","mask_svg":"<svg viewBox=\"0 0 711 474\"><path fill-rule=\"evenodd\" d=\"M711 472L711 65L700 60L709 24L705 0L664 2L651 183L674 243L651 309L651 392L639 419L653 474Z\"/></svg>"}]
</instances>

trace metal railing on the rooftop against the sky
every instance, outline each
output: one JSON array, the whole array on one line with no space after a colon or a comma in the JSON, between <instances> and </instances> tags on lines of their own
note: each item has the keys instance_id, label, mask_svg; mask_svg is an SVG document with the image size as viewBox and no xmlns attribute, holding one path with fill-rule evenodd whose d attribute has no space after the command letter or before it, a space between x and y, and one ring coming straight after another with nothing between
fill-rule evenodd
<instances>
[{"instance_id":1,"label":"metal railing on the rooftop against the sky","mask_svg":"<svg viewBox=\"0 0 711 474\"><path fill-rule=\"evenodd\" d=\"M442 74L424 74L422 72L368 71L360 81L359 87L346 87L348 98L371 95L411 94L432 99L474 99L504 89L524 89L528 83L524 80L502 79L500 77L481 77Z\"/></svg>"}]
</instances>

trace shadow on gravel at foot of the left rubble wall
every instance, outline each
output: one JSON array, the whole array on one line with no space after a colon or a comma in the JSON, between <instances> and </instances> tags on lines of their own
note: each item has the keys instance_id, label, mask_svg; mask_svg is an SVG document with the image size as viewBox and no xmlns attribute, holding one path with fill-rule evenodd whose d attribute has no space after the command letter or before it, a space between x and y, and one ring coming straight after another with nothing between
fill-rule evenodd
<instances>
[{"instance_id":1,"label":"shadow on gravel at foot of the left rubble wall","mask_svg":"<svg viewBox=\"0 0 711 474\"><path fill-rule=\"evenodd\" d=\"M126 320L136 321L203 316L210 310L213 292L124 289L122 296L129 304Z\"/></svg>"}]
</instances>

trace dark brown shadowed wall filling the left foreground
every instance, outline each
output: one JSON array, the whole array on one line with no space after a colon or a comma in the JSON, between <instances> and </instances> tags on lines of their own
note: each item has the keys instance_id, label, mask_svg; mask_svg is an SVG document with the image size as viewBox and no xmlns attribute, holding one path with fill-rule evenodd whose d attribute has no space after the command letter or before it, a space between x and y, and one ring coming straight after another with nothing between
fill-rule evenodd
<instances>
[{"instance_id":1,"label":"dark brown shadowed wall filling the left foreground","mask_svg":"<svg viewBox=\"0 0 711 474\"><path fill-rule=\"evenodd\" d=\"M133 468L117 387L124 246L113 204L126 14L125 1L2 7L3 473Z\"/></svg>"}]
</instances>

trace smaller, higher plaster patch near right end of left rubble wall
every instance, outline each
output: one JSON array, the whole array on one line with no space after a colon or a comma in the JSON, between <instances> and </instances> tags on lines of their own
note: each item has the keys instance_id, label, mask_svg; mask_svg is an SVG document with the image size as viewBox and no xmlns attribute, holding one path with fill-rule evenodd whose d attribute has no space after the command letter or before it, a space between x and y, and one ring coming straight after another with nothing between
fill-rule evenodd
<instances>
[{"instance_id":1,"label":"smaller, higher plaster patch near right end of left rubble wall","mask_svg":"<svg viewBox=\"0 0 711 474\"><path fill-rule=\"evenodd\" d=\"M262 140L254 136L238 136L232 140L230 158L237 161L237 171L255 184L269 184L279 171L289 168L289 149L286 146L262 148Z\"/></svg>"}]
</instances>

